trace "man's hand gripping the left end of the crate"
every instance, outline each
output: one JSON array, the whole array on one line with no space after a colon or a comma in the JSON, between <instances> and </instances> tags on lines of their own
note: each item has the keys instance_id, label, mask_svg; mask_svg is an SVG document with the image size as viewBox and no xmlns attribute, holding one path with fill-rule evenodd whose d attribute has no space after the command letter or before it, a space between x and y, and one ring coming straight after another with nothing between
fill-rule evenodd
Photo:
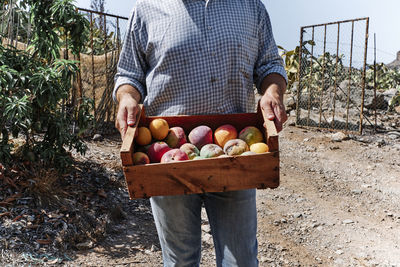
<instances>
[{"instance_id":1,"label":"man's hand gripping the left end of the crate","mask_svg":"<svg viewBox=\"0 0 400 267\"><path fill-rule=\"evenodd\" d=\"M139 111L139 92L130 85L122 85L117 91L118 114L115 121L115 127L121 133L124 140L128 126L133 126L137 120Z\"/></svg>"}]
</instances>

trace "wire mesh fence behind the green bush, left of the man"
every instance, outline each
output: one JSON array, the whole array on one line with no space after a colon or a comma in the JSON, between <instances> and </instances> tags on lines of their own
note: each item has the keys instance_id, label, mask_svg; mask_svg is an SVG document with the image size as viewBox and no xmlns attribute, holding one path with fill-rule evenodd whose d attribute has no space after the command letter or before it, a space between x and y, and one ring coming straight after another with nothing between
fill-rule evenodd
<instances>
[{"instance_id":1,"label":"wire mesh fence behind the green bush, left of the man","mask_svg":"<svg viewBox=\"0 0 400 267\"><path fill-rule=\"evenodd\" d=\"M80 67L70 91L69 103L63 103L62 108L76 109L84 97L92 99L97 129L104 129L102 125L113 122L116 117L112 90L128 18L82 8L77 12L88 20L90 33L84 50L78 56L67 49L69 40L60 33L61 56L78 60ZM21 9L16 0L0 6L1 44L27 50L30 40L30 11Z\"/></svg>"}]
</instances>

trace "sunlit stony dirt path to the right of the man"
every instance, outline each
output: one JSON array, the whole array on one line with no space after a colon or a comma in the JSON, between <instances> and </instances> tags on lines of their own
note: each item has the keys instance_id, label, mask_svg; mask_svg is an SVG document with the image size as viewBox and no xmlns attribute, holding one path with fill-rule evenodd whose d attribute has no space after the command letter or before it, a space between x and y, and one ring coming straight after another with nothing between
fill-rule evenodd
<instances>
[{"instance_id":1,"label":"sunlit stony dirt path to the right of the man","mask_svg":"<svg viewBox=\"0 0 400 267\"><path fill-rule=\"evenodd\" d=\"M258 194L260 234L278 247L265 266L400 265L400 153L381 141L284 131L281 186Z\"/></svg>"}]
</instances>

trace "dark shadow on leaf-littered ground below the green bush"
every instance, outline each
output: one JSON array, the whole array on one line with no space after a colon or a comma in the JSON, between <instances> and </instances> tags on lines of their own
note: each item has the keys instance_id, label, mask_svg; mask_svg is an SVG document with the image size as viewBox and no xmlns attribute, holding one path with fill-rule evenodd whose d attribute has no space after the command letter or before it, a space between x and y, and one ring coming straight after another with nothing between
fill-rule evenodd
<instances>
[{"instance_id":1,"label":"dark shadow on leaf-littered ground below the green bush","mask_svg":"<svg viewBox=\"0 0 400 267\"><path fill-rule=\"evenodd\" d=\"M88 153L64 175L31 171L11 177L16 188L0 179L0 199L15 198L0 206L0 265L68 264L88 252L119 258L159 247L149 200L130 200L121 168Z\"/></svg>"}]
</instances>

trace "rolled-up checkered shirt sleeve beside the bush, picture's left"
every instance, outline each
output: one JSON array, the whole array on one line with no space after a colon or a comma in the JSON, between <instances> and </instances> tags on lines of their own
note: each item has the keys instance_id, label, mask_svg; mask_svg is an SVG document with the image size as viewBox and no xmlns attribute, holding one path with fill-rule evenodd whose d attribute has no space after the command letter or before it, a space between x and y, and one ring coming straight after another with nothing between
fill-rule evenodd
<instances>
[{"instance_id":1,"label":"rolled-up checkered shirt sleeve beside the bush, picture's left","mask_svg":"<svg viewBox=\"0 0 400 267\"><path fill-rule=\"evenodd\" d=\"M141 95L142 102L147 95L147 64L145 61L145 54L143 53L144 46L142 43L146 34L136 18L135 10L133 10L128 21L128 30L118 61L117 73L115 75L113 91L113 99L115 102L117 102L117 90L124 84L129 84L135 87ZM139 32L141 33L140 35Z\"/></svg>"}]
</instances>

